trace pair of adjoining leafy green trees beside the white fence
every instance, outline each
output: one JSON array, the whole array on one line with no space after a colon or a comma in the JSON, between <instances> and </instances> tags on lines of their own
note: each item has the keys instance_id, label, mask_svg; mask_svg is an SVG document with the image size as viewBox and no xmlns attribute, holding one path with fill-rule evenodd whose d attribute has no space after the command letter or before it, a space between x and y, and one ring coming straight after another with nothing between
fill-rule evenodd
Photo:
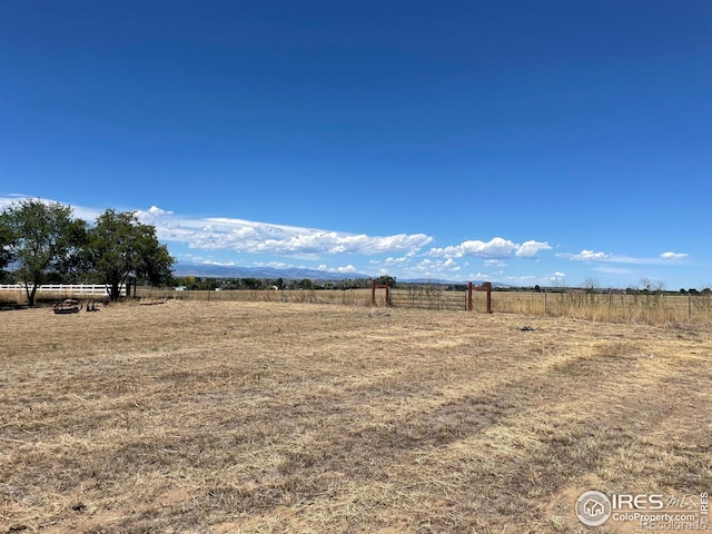
<instances>
[{"instance_id":1,"label":"pair of adjoining leafy green trees beside the white fence","mask_svg":"<svg viewBox=\"0 0 712 534\"><path fill-rule=\"evenodd\" d=\"M0 279L20 280L30 306L43 284L106 284L118 300L129 276L170 280L176 259L135 211L107 209L93 224L72 214L70 206L31 198L0 212Z\"/></svg>"}]
</instances>

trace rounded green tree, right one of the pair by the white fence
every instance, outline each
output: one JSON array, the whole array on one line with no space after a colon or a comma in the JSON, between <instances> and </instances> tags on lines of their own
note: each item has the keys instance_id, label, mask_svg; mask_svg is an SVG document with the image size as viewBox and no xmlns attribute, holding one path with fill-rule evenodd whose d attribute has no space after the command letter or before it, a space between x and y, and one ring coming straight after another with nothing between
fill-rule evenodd
<instances>
[{"instance_id":1,"label":"rounded green tree, right one of the pair by the white fence","mask_svg":"<svg viewBox=\"0 0 712 534\"><path fill-rule=\"evenodd\" d=\"M89 230L88 255L95 276L118 300L129 275L160 284L170 277L175 258L158 243L156 228L141 224L134 211L107 209Z\"/></svg>"}]
</instances>

